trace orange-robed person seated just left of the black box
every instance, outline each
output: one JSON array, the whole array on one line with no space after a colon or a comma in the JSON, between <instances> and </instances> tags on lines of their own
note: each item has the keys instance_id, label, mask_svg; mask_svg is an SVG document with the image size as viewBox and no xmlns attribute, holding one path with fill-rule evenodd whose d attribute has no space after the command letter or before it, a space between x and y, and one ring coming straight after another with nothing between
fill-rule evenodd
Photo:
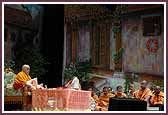
<instances>
[{"instance_id":1,"label":"orange-robed person seated just left of the black box","mask_svg":"<svg viewBox=\"0 0 168 115\"><path fill-rule=\"evenodd\" d=\"M97 106L96 110L107 111L108 105L109 105L109 99L114 96L115 96L114 94L109 93L108 87L104 87L103 94L100 95L100 97L99 97L99 102L98 102L98 106Z\"/></svg>"}]
</instances>

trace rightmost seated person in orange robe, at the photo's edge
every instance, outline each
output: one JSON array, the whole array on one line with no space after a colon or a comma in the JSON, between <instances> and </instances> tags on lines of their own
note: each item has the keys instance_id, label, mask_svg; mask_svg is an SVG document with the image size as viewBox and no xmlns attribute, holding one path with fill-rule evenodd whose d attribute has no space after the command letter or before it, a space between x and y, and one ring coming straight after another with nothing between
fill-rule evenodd
<instances>
[{"instance_id":1,"label":"rightmost seated person in orange robe, at the photo's edge","mask_svg":"<svg viewBox=\"0 0 168 115\"><path fill-rule=\"evenodd\" d=\"M164 104L164 93L161 91L160 86L156 86L154 89L154 94L151 99L151 106L161 107Z\"/></svg>"}]
</instances>

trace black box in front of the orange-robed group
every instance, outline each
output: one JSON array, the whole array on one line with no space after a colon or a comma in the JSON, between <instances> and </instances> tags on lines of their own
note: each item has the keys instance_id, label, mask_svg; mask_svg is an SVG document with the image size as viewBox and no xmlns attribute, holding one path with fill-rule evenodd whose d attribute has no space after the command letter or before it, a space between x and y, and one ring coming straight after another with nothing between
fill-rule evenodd
<instances>
[{"instance_id":1,"label":"black box in front of the orange-robed group","mask_svg":"<svg viewBox=\"0 0 168 115\"><path fill-rule=\"evenodd\" d=\"M132 98L110 98L109 111L146 111L147 102Z\"/></svg>"}]
</instances>

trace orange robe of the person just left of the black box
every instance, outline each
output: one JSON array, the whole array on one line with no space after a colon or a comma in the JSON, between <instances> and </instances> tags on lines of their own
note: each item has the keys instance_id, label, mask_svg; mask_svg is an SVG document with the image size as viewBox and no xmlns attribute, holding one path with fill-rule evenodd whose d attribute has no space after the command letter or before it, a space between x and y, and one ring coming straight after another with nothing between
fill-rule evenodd
<instances>
[{"instance_id":1,"label":"orange robe of the person just left of the black box","mask_svg":"<svg viewBox=\"0 0 168 115\"><path fill-rule=\"evenodd\" d=\"M109 99L111 97L114 97L115 95L114 94L107 94L107 95L101 95L99 97L99 103L98 103L98 106L96 108L96 110L99 110L99 111L108 111L108 105L109 105Z\"/></svg>"}]
</instances>

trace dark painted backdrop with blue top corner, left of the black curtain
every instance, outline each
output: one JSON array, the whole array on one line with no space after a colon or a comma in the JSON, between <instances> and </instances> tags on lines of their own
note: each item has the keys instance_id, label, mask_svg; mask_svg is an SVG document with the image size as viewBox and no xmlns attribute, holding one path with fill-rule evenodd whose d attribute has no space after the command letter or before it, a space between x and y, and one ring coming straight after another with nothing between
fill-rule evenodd
<instances>
[{"instance_id":1,"label":"dark painted backdrop with blue top corner, left of the black curtain","mask_svg":"<svg viewBox=\"0 0 168 115\"><path fill-rule=\"evenodd\" d=\"M43 7L35 4L5 4L4 17L5 68L11 67L17 73L24 63L31 64L31 76L42 80L46 63L41 54Z\"/></svg>"}]
</instances>

